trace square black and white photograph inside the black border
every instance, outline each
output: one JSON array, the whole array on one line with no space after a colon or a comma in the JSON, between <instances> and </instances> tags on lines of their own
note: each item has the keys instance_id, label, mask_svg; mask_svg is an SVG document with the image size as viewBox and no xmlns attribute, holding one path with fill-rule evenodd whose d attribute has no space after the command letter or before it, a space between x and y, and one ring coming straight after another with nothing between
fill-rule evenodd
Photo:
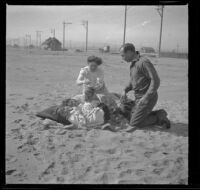
<instances>
[{"instance_id":1,"label":"square black and white photograph inside the black border","mask_svg":"<svg viewBox=\"0 0 200 190\"><path fill-rule=\"evenodd\" d=\"M6 184L188 185L188 4L6 5Z\"/></svg>"}]
</instances>

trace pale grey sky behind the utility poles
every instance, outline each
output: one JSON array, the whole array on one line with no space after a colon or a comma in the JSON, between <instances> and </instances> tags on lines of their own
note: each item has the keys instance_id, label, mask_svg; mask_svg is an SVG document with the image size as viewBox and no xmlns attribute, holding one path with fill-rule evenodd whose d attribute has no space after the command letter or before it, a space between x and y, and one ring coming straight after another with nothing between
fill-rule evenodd
<instances>
[{"instance_id":1,"label":"pale grey sky behind the utility poles","mask_svg":"<svg viewBox=\"0 0 200 190\"><path fill-rule=\"evenodd\" d=\"M123 42L125 6L11 6L7 5L7 39L30 34L33 44L36 30L42 31L42 41L55 36L63 41L63 21L66 26L66 46L84 45L88 20L88 44L120 46ZM158 48L160 16L156 6L128 6L126 42L136 48ZM188 51L188 5L165 6L163 17L162 49Z\"/></svg>"}]
</instances>

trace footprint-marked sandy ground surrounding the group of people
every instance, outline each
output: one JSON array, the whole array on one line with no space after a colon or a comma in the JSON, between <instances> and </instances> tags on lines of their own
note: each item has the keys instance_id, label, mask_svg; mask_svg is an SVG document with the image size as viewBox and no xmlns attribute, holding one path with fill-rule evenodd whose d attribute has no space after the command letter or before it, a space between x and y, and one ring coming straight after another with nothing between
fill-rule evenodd
<instances>
[{"instance_id":1,"label":"footprint-marked sandy ground surrounding the group of people","mask_svg":"<svg viewBox=\"0 0 200 190\"><path fill-rule=\"evenodd\" d=\"M121 92L129 65L119 55L101 56L108 89ZM81 92L75 80L86 58L7 49L6 183L188 184L188 61L152 60L161 78L155 109L166 109L170 130L44 125L35 113Z\"/></svg>"}]
</instances>

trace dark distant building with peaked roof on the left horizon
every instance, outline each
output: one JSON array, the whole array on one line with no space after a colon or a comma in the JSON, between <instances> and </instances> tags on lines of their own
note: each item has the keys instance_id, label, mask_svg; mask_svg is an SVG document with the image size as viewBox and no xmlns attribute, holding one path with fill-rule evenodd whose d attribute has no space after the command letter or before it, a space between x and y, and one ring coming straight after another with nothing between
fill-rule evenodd
<instances>
[{"instance_id":1,"label":"dark distant building with peaked roof on the left horizon","mask_svg":"<svg viewBox=\"0 0 200 190\"><path fill-rule=\"evenodd\" d=\"M45 50L59 51L62 49L62 43L56 38L50 37L42 43L41 47Z\"/></svg>"}]
</instances>

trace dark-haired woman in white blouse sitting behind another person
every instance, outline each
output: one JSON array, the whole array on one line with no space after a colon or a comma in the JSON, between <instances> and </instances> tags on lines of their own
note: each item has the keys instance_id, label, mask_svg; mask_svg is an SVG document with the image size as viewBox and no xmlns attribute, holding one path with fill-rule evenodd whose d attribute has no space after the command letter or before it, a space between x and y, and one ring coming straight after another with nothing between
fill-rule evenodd
<instances>
[{"instance_id":1,"label":"dark-haired woman in white blouse sitting behind another person","mask_svg":"<svg viewBox=\"0 0 200 190\"><path fill-rule=\"evenodd\" d=\"M77 84L83 86L83 91L86 87L92 87L97 94L100 102L105 103L109 108L117 107L112 95L104 82L104 73L99 66L102 64L102 59L96 56L89 56L87 59L88 66L81 69Z\"/></svg>"}]
</instances>

